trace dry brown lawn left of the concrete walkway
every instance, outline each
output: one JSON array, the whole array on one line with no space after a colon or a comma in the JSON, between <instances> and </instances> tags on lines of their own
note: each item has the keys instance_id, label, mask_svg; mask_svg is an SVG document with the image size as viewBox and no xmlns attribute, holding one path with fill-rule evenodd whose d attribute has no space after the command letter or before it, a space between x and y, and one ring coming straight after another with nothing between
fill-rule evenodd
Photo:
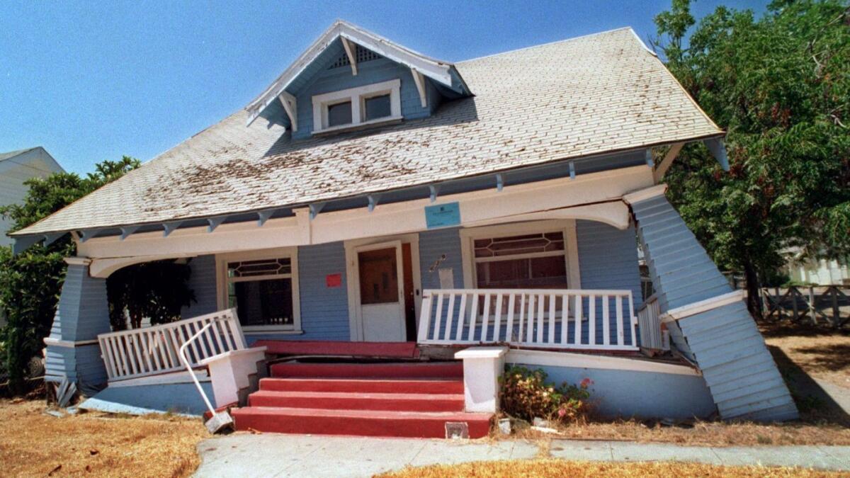
<instances>
[{"instance_id":1,"label":"dry brown lawn left of the concrete walkway","mask_svg":"<svg viewBox=\"0 0 850 478\"><path fill-rule=\"evenodd\" d=\"M200 420L170 416L56 418L44 401L0 400L4 476L188 476L207 437Z\"/></svg>"}]
</instances>

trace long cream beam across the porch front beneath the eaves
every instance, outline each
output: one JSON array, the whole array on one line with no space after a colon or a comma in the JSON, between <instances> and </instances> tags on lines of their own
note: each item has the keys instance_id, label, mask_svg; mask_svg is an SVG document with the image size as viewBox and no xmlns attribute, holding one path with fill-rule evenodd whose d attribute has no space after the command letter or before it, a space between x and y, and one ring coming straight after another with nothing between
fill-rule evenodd
<instances>
[{"instance_id":1,"label":"long cream beam across the porch front beneath the eaves","mask_svg":"<svg viewBox=\"0 0 850 478\"><path fill-rule=\"evenodd\" d=\"M439 196L438 202L460 202L462 226L485 221L517 221L523 214L557 214L568 219L599 220L622 225L621 209L611 206L628 191L653 184L652 170L646 166L621 168L575 179L558 178L521 185L505 185L482 191ZM593 204L604 202L604 204ZM423 210L428 198L379 204L370 213L356 208L320 213L309 220L307 213L296 217L269 219L264 225L244 222L219 225L212 233L206 226L181 228L167 237L161 231L140 232L121 240L119 236L93 237L78 242L79 255L98 259L137 256L187 257L209 253L280 248L320 244L375 236L393 236L427 230ZM594 213L596 212L596 213ZM615 214L615 219L612 214ZM106 269L106 268L105 268Z\"/></svg>"}]
</instances>

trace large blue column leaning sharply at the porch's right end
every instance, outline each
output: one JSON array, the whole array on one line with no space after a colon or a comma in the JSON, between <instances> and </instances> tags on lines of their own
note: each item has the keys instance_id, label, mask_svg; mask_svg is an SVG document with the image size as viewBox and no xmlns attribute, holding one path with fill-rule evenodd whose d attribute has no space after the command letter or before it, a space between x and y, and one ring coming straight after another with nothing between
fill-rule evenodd
<instances>
[{"instance_id":1,"label":"large blue column leaning sharply at the porch's right end","mask_svg":"<svg viewBox=\"0 0 850 478\"><path fill-rule=\"evenodd\" d=\"M628 194L673 343L702 371L723 419L780 421L797 410L756 322L667 202L666 185Z\"/></svg>"}]
</instances>

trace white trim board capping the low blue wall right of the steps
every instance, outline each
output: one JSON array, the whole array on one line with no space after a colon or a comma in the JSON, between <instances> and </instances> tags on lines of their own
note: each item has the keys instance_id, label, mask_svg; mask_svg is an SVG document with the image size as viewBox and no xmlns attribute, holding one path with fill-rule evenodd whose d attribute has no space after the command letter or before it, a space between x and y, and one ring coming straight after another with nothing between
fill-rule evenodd
<instances>
[{"instance_id":1,"label":"white trim board capping the low blue wall right of the steps","mask_svg":"<svg viewBox=\"0 0 850 478\"><path fill-rule=\"evenodd\" d=\"M547 367L596 368L602 370L622 370L625 372L671 373L700 377L700 371L686 365L649 361L642 359L594 356L570 352L549 352L544 350L509 350L505 358L507 363L540 365Z\"/></svg>"}]
</instances>

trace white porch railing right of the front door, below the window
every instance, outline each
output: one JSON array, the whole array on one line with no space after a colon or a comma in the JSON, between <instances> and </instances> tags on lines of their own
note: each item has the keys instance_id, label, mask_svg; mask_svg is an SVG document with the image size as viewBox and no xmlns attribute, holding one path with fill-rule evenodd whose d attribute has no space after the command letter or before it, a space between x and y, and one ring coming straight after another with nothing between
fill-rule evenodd
<instances>
[{"instance_id":1,"label":"white porch railing right of the front door, below the window","mask_svg":"<svg viewBox=\"0 0 850 478\"><path fill-rule=\"evenodd\" d=\"M627 290L426 290L418 342L638 350L632 310Z\"/></svg>"}]
</instances>

